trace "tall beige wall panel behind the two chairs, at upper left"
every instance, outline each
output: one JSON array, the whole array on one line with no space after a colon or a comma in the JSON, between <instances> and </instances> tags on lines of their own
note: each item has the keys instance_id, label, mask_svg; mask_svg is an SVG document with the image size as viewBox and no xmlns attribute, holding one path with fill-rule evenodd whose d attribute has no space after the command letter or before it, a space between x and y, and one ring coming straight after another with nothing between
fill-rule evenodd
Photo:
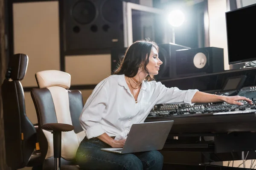
<instances>
[{"instance_id":1,"label":"tall beige wall panel behind the two chairs, at upper left","mask_svg":"<svg viewBox=\"0 0 256 170\"><path fill-rule=\"evenodd\" d=\"M14 54L29 57L23 87L37 86L35 73L60 70L58 1L13 4Z\"/></svg>"}]
</instances>

